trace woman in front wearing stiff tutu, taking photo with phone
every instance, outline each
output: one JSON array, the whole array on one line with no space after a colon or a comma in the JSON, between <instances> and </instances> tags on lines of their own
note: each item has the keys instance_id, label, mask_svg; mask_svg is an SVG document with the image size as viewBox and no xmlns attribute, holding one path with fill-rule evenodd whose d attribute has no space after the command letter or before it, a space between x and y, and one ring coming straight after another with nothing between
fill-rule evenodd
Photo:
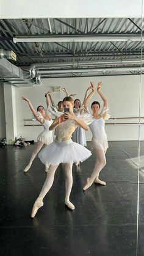
<instances>
[{"instance_id":1,"label":"woman in front wearing stiff tutu, taking photo with phone","mask_svg":"<svg viewBox=\"0 0 144 256\"><path fill-rule=\"evenodd\" d=\"M76 117L73 113L73 98L65 97L63 99L63 108L67 112L64 112L64 114L58 118L56 117L49 127L49 130L56 128L56 140L48 147L43 148L38 155L42 163L49 166L49 170L43 188L32 208L32 218L34 218L38 208L43 206L43 198L52 186L56 169L60 163L63 163L65 166L65 205L71 210L74 210L74 205L70 202L70 193L73 185L73 163L76 161L84 161L92 155L87 148L71 140L71 134L77 126L88 130L88 125L81 117Z\"/></svg>"}]
</instances>

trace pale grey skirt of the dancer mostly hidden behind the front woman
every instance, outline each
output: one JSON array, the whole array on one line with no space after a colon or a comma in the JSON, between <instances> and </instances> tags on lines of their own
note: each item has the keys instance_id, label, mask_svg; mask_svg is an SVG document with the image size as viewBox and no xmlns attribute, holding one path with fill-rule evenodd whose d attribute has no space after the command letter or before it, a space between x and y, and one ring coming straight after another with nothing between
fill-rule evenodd
<instances>
[{"instance_id":1,"label":"pale grey skirt of the dancer mostly hidden behind the front woman","mask_svg":"<svg viewBox=\"0 0 144 256\"><path fill-rule=\"evenodd\" d=\"M87 142L84 129L78 126L72 134L72 140L78 144L81 144L82 146L86 146Z\"/></svg>"}]
</instances>

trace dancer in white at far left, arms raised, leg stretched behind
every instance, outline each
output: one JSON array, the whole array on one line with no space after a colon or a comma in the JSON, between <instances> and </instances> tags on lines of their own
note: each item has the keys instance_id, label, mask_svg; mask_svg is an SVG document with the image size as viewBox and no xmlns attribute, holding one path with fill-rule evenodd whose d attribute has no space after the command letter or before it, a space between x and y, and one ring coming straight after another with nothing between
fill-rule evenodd
<instances>
[{"instance_id":1,"label":"dancer in white at far left, arms raised, leg stretched behind","mask_svg":"<svg viewBox=\"0 0 144 256\"><path fill-rule=\"evenodd\" d=\"M47 108L49 108L49 93L50 92L51 91L46 93ZM21 97L21 98L22 98L22 100L27 101L27 103L29 104L29 108L31 109L32 113L34 114L35 119L38 120L38 122L40 122L43 125L43 128L44 128L42 133L40 133L38 135L35 150L31 155L31 159L29 161L29 164L24 169L24 172L27 172L27 170L30 169L30 167L32 165L32 162L34 161L35 156L37 156L37 153L40 151L41 147L43 147L43 145L49 145L51 142L53 142L52 131L49 131L49 126L52 124L52 119L51 119L50 113L48 114L45 111L45 109L43 108L43 106L38 106L37 111L36 111L34 109L34 107L32 106L32 103L29 99L24 98L24 97ZM45 171L48 172L48 165L46 165Z\"/></svg>"}]
</instances>

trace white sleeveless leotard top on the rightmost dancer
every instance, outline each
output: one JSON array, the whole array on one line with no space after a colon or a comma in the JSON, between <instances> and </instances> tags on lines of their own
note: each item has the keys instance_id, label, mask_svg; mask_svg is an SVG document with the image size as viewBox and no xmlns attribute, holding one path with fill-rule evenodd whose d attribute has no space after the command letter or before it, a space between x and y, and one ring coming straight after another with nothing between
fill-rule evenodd
<instances>
[{"instance_id":1,"label":"white sleeveless leotard top on the rightmost dancer","mask_svg":"<svg viewBox=\"0 0 144 256\"><path fill-rule=\"evenodd\" d=\"M101 117L100 119L93 120L92 123L90 123L89 127L92 131L93 137L103 137L106 135L106 131L104 130L104 119Z\"/></svg>"}]
</instances>

